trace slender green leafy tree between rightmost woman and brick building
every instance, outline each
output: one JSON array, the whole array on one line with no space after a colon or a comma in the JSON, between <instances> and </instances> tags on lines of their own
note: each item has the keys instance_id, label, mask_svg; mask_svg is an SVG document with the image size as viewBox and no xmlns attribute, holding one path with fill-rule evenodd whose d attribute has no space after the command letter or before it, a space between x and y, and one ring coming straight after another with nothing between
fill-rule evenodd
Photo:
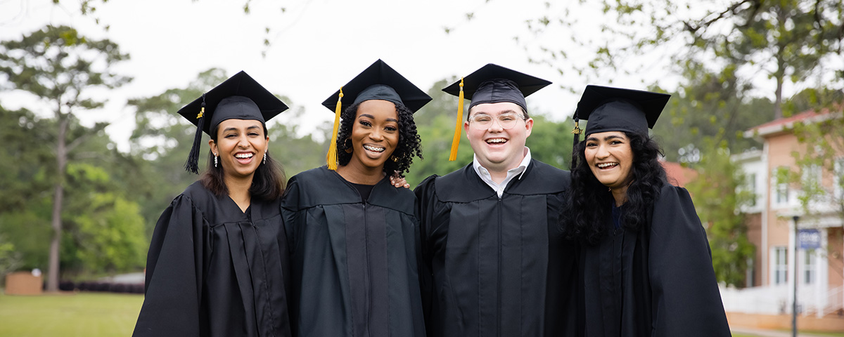
<instances>
[{"instance_id":1,"label":"slender green leafy tree between rightmost woman and brick building","mask_svg":"<svg viewBox=\"0 0 844 337\"><path fill-rule=\"evenodd\" d=\"M693 200L712 251L712 267L719 282L744 286L747 261L755 247L747 238L747 226L741 206L752 198L743 189L744 174L730 161L724 143L707 139L701 161L695 165L698 179L686 186Z\"/></svg>"}]
</instances>

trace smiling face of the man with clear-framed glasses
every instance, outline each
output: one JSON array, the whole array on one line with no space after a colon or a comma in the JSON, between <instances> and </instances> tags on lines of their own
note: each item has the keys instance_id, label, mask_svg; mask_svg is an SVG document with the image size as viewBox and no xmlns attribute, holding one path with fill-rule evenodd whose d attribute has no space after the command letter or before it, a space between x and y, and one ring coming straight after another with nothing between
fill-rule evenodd
<instances>
[{"instance_id":1,"label":"smiling face of the man with clear-framed glasses","mask_svg":"<svg viewBox=\"0 0 844 337\"><path fill-rule=\"evenodd\" d=\"M501 127L499 116L503 114L517 115L515 125L509 129ZM491 122L478 125L472 121L478 115L490 116ZM506 172L522 163L525 141L533 130L533 119L523 117L522 107L511 102L478 104L469 110L463 130L481 166L491 172Z\"/></svg>"}]
</instances>

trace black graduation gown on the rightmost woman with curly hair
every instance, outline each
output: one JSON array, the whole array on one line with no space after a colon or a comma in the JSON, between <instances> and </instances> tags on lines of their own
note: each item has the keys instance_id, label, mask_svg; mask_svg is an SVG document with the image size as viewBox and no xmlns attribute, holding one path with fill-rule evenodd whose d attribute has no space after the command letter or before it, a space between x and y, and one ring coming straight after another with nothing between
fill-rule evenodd
<instances>
[{"instance_id":1,"label":"black graduation gown on the rightmost woman with curly hair","mask_svg":"<svg viewBox=\"0 0 844 337\"><path fill-rule=\"evenodd\" d=\"M689 192L666 184L648 217L643 232L621 227L583 246L586 336L729 336Z\"/></svg>"}]
</instances>

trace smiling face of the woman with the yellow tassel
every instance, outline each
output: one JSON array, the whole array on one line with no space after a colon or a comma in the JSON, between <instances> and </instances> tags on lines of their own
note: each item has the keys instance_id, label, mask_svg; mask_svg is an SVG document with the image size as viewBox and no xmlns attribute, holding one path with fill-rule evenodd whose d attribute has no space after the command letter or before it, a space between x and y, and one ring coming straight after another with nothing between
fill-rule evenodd
<instances>
[{"instance_id":1,"label":"smiling face of the woman with the yellow tassel","mask_svg":"<svg viewBox=\"0 0 844 337\"><path fill-rule=\"evenodd\" d=\"M392 102L361 102L352 124L352 158L349 167L381 174L384 162L398 146L398 112Z\"/></svg>"}]
</instances>

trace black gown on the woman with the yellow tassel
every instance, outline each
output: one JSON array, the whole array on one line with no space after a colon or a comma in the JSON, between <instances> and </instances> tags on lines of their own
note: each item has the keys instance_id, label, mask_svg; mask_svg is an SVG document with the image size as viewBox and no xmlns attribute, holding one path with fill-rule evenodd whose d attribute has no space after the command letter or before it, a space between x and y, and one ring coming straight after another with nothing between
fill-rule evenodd
<instances>
[{"instance_id":1,"label":"black gown on the woman with the yellow tassel","mask_svg":"<svg viewBox=\"0 0 844 337\"><path fill-rule=\"evenodd\" d=\"M385 178L364 202L325 166L289 180L282 214L295 335L425 335L414 201Z\"/></svg>"}]
</instances>

